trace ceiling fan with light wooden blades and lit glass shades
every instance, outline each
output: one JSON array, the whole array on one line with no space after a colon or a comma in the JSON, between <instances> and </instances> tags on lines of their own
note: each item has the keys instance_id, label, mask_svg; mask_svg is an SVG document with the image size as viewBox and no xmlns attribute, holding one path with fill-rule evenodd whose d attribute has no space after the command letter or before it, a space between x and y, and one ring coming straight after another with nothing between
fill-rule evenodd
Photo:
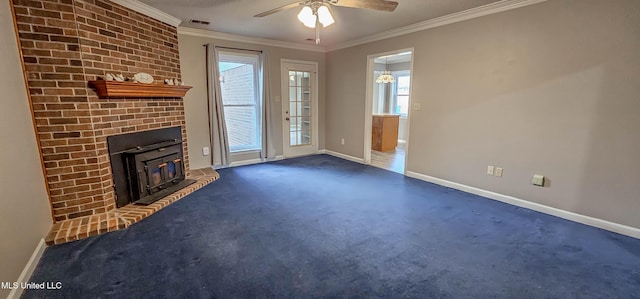
<instances>
[{"instance_id":1,"label":"ceiling fan with light wooden blades and lit glass shades","mask_svg":"<svg viewBox=\"0 0 640 299\"><path fill-rule=\"evenodd\" d=\"M298 20L309 28L316 29L316 45L320 43L320 26L327 27L335 22L331 13L331 6L367 8L380 11L394 11L398 2L387 0L302 0L287 4L255 15L256 18L302 6L298 13Z\"/></svg>"}]
</instances>

